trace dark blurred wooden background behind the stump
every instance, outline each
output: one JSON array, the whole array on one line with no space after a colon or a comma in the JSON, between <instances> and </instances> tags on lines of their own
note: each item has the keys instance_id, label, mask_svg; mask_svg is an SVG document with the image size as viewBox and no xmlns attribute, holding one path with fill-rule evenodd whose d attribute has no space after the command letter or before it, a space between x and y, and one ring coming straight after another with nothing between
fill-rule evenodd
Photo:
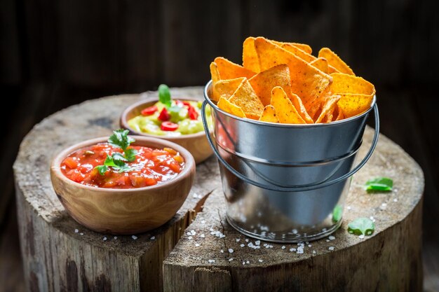
<instances>
[{"instance_id":1,"label":"dark blurred wooden background behind the stump","mask_svg":"<svg viewBox=\"0 0 439 292\"><path fill-rule=\"evenodd\" d=\"M35 123L104 95L203 85L246 36L335 50L377 88L381 132L419 162L424 289L439 291L439 1L0 0L0 291L23 291L11 165Z\"/></svg>"}]
</instances>

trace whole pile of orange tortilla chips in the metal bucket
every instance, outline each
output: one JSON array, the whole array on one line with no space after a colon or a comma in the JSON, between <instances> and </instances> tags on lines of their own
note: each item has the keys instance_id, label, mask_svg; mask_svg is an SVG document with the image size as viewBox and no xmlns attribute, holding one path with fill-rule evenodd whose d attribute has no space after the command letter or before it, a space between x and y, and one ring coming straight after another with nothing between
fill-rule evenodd
<instances>
[{"instance_id":1,"label":"whole pile of orange tortilla chips in the metal bucket","mask_svg":"<svg viewBox=\"0 0 439 292\"><path fill-rule=\"evenodd\" d=\"M219 109L270 123L330 123L370 108L372 83L355 76L332 50L318 57L303 43L249 37L243 66L224 57L210 64L212 99Z\"/></svg>"}]
</instances>

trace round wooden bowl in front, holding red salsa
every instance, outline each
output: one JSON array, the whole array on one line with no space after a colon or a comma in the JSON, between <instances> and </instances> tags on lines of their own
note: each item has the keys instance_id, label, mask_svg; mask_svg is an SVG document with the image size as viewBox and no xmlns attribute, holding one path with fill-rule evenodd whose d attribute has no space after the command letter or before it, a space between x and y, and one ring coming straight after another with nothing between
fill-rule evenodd
<instances>
[{"instance_id":1,"label":"round wooden bowl in front, holding red salsa","mask_svg":"<svg viewBox=\"0 0 439 292\"><path fill-rule=\"evenodd\" d=\"M157 228L172 218L186 200L195 176L195 162L182 146L162 139L134 136L133 145L169 147L180 152L184 169L175 178L143 188L97 188L85 186L62 174L60 165L70 153L108 137L90 139L69 147L53 159L50 178L67 212L81 225L97 232L135 234Z\"/></svg>"}]
</instances>

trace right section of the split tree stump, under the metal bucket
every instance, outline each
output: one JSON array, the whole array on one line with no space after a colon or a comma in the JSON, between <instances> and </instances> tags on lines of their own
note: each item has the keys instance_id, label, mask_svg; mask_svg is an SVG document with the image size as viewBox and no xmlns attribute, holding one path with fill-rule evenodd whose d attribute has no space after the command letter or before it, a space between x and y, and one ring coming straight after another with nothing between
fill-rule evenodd
<instances>
[{"instance_id":1,"label":"right section of the split tree stump, under the metal bucket","mask_svg":"<svg viewBox=\"0 0 439 292\"><path fill-rule=\"evenodd\" d=\"M372 136L367 128L360 158ZM391 177L393 192L366 193L360 185L375 176ZM164 291L421 291L423 191L417 163L381 136L353 177L342 227L297 253L297 244L267 246L231 228L222 188L216 188L163 263ZM371 216L372 236L346 231L349 221ZM258 243L259 249L251 247Z\"/></svg>"}]
</instances>

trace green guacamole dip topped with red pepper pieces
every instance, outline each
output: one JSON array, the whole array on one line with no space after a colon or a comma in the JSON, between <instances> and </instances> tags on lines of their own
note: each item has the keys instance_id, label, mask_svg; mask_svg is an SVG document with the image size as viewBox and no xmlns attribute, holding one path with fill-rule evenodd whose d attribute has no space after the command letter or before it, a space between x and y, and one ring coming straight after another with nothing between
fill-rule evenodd
<instances>
[{"instance_id":1,"label":"green guacamole dip topped with red pepper pieces","mask_svg":"<svg viewBox=\"0 0 439 292\"><path fill-rule=\"evenodd\" d=\"M158 120L158 116L163 107L165 107L165 105L161 102L156 102L156 104L154 104L155 106L157 106L158 110L151 116L136 116L135 118L128 120L128 125L137 132L144 132L147 134L168 137L177 137L185 134L195 134L204 131L203 121L201 120L202 102L191 102L189 100L187 102L189 102L191 106L196 109L196 111L198 112L198 118L196 120L191 120L189 118L187 107L183 106L178 109L175 101L173 101L172 106L170 106L170 109L168 109L168 112L170 113L169 121L178 124L178 128L175 131L163 131L160 128L162 121ZM209 106L206 106L205 113L208 120L208 126L210 129L212 129L212 117L210 114Z\"/></svg>"}]
</instances>

